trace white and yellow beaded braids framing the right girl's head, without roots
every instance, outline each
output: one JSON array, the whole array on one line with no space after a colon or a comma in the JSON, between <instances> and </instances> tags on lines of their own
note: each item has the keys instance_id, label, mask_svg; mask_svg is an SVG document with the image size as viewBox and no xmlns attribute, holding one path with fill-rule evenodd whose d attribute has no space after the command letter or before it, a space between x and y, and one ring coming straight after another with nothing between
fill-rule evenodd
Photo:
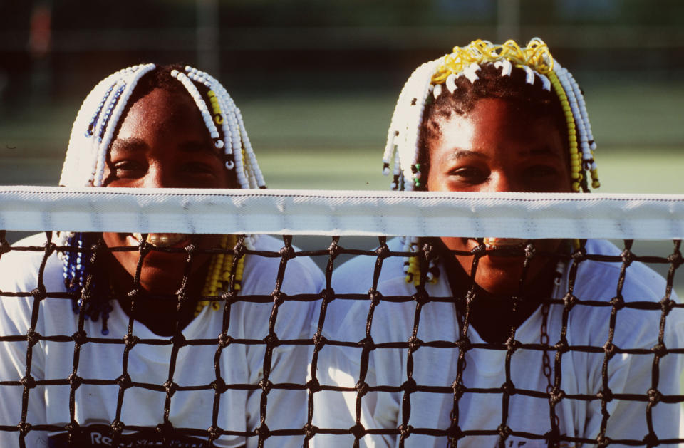
<instances>
[{"instance_id":1,"label":"white and yellow beaded braids framing the right girl's head, without roots","mask_svg":"<svg viewBox=\"0 0 684 448\"><path fill-rule=\"evenodd\" d=\"M568 131L570 175L573 181L571 189L574 192L589 192L589 177L591 188L600 187L594 161L596 143L591 133L584 95L571 73L554 61L546 43L539 38L532 38L524 48L513 40L502 45L483 40L472 41L468 46L454 47L452 53L415 69L399 94L388 130L383 174L390 174L393 162L391 188L407 191L425 188L425 182L420 180L423 173L418 160L418 136L429 93L434 99L444 94L445 90L452 94L457 90L456 80L461 77L467 78L471 84L475 83L479 79L477 73L481 66L487 63L499 68L501 76L510 76L513 68L521 68L525 72L527 84L533 85L539 80L544 90L555 93L561 102ZM574 246L578 246L578 243L575 241ZM419 248L420 239L404 237L404 251L416 252ZM404 272L407 282L418 284L418 257L405 259ZM438 269L433 263L430 264L427 280L434 282L437 275Z\"/></svg>"}]
</instances>

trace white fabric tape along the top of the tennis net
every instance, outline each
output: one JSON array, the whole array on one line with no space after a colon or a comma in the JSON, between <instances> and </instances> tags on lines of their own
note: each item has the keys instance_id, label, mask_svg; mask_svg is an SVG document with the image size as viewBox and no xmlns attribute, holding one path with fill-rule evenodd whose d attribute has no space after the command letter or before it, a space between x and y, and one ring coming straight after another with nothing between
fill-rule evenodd
<instances>
[{"instance_id":1,"label":"white fabric tape along the top of the tennis net","mask_svg":"<svg viewBox=\"0 0 684 448\"><path fill-rule=\"evenodd\" d=\"M684 194L11 186L0 229L680 239Z\"/></svg>"}]
</instances>

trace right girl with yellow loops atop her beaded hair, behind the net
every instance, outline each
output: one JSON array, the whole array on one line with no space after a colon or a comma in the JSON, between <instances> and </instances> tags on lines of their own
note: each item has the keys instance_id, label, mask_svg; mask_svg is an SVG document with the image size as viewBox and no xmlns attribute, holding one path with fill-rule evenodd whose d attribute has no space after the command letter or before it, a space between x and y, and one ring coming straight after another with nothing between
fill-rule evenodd
<instances>
[{"instance_id":1,"label":"right girl with yellow loops atop her beaded hair, behind the net","mask_svg":"<svg viewBox=\"0 0 684 448\"><path fill-rule=\"evenodd\" d=\"M544 42L474 41L410 76L383 162L399 190L589 192L599 186L593 140L583 93ZM316 447L673 446L663 441L681 437L680 404L649 402L680 393L683 357L651 352L660 308L611 317L616 291L626 303L657 303L665 281L633 262L622 282L622 264L601 261L620 254L613 244L466 235L387 246L415 256L383 259L377 283L377 256L343 264L335 293L376 299L333 301L322 327L314 321L324 340L358 343L318 353ZM415 300L383 300L397 297ZM668 349L683 346L683 325L670 313Z\"/></svg>"}]
</instances>

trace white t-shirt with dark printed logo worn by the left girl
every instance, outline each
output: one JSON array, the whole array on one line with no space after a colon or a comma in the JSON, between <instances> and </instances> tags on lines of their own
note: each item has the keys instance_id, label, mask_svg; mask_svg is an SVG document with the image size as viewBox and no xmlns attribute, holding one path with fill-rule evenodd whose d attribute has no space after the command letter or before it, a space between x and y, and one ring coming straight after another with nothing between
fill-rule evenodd
<instances>
[{"instance_id":1,"label":"white t-shirt with dark printed logo worn by the left girl","mask_svg":"<svg viewBox=\"0 0 684 448\"><path fill-rule=\"evenodd\" d=\"M45 236L36 235L19 241L15 246L41 246ZM279 251L282 241L271 236L261 236L255 249ZM41 252L11 251L0 257L0 291L3 293L28 292L38 286L37 274L43 259ZM276 287L279 258L247 255L240 296L269 295ZM74 365L73 340L68 340L78 330L78 316L72 311L71 300L51 298L51 293L63 293L65 287L63 264L56 254L47 260L43 274L48 298L38 306L36 332L43 337L66 335L67 338L41 340L33 346L31 376L35 380L61 380L61 385L38 385L28 394L26 422L56 424L62 427L70 422L70 386L65 381ZM320 269L306 257L287 261L281 291L294 295L318 293L323 288ZM88 380L115 380L123 374L124 348L122 340L128 333L129 318L118 302L112 301L113 311L109 318L109 334L100 332L101 323L85 321L84 330L91 338L103 338L112 343L88 342L78 353L76 375L83 384L76 389L74 419L81 427L90 425L86 436L93 447L113 446L107 436L107 427L115 420L118 385L88 384ZM169 420L177 428L205 430L212 426L214 389L207 387L217 380L217 373L226 385L243 385L229 388L220 395L217 426L232 432L253 432L260 426L260 405L266 405L265 424L273 432L279 429L301 429L306 424L306 390L284 390L274 387L262 402L262 390L258 386L263 378L266 344L269 334L269 318L274 306L270 303L247 303L238 301L230 311L227 333L235 340L256 340L247 345L236 341L223 348L216 366L217 338L222 332L223 307L212 311L205 307L182 331L185 339L202 339L206 344L185 345L177 353L172 380L180 387L204 386L200 390L177 390L170 400ZM309 302L284 301L279 306L275 333L279 340L311 338L308 334L313 313ZM31 325L33 298L0 296L0 336L26 335ZM169 380L172 345L150 345L151 340L166 340L152 333L142 323L135 322L133 334L140 342L128 353L126 368L133 387L125 389L120 421L126 425L156 427L164 422L164 406L167 393L163 385ZM261 342L259 342L261 341ZM0 343L0 381L19 381L26 373L26 340ZM306 345L279 345L271 358L269 380L280 383L306 382L309 347ZM148 388L140 387L145 383ZM22 386L0 385L0 425L16 426L21 421ZM99 425L99 426L98 426ZM102 425L105 425L104 427ZM48 438L52 437L51 445ZM26 436L26 447L60 446L55 431L33 430ZM174 444L174 447L200 447L202 439L194 437ZM273 435L265 440L266 447L301 447L303 436L287 437ZM258 437L229 434L214 444L221 447L256 447ZM0 431L0 447L19 446L18 432ZM79 445L81 446L81 445ZM124 446L124 445L121 445ZM128 445L125 445L128 446ZM132 446L147 446L134 444ZM149 446L152 446L151 444ZM156 446L156 445L155 445Z\"/></svg>"}]
</instances>

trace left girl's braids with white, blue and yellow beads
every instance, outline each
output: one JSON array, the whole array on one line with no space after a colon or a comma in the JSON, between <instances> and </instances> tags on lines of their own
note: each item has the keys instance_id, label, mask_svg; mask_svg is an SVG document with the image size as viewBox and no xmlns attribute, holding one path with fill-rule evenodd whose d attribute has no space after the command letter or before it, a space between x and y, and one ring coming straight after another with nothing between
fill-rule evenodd
<instances>
[{"instance_id":1,"label":"left girl's braids with white, blue and yellow beads","mask_svg":"<svg viewBox=\"0 0 684 448\"><path fill-rule=\"evenodd\" d=\"M73 123L71 137L61 172L60 184L65 187L102 187L107 155L114 134L123 113L135 92L136 85L147 73L160 70L155 64L130 66L109 75L88 94L78 110ZM204 126L217 150L222 150L224 166L234 172L240 188L266 188L264 176L249 142L242 114L227 90L211 75L185 66L182 70L172 69L172 78L178 80L197 105ZM206 98L199 92L197 84L208 89ZM224 236L222 249L235 246L237 237ZM244 246L254 249L256 236L244 238ZM93 248L100 244L97 234L59 232L58 246L68 250L60 252L64 265L64 281L69 293L73 294L73 309L79 313L83 308L86 318L96 321L103 318L102 333L108 334L107 320L112 311L110 285L100 278L93 264ZM214 297L219 291L227 291L234 264L232 254L214 254L209 261L209 273L202 289L202 296ZM236 264L232 287L239 291L244 271L244 257ZM89 283L90 299L84 303L83 288ZM210 301L200 301L195 316ZM211 302L212 309L220 308L218 302Z\"/></svg>"}]
</instances>

